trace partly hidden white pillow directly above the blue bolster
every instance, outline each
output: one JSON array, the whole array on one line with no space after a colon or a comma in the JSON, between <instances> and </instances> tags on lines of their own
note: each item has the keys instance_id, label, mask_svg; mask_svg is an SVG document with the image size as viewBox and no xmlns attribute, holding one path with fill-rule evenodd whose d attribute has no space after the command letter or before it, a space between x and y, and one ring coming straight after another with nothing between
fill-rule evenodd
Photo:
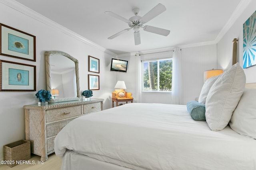
<instances>
[{"instance_id":1,"label":"partly hidden white pillow directly above the blue bolster","mask_svg":"<svg viewBox=\"0 0 256 170\"><path fill-rule=\"evenodd\" d=\"M218 77L219 76L214 76L214 77L210 77L206 80L206 82L204 83L204 85L202 87L200 96L198 98L199 103L205 104L207 94L208 94L210 88L212 87L212 84L214 84L214 82L217 80Z\"/></svg>"}]
</instances>

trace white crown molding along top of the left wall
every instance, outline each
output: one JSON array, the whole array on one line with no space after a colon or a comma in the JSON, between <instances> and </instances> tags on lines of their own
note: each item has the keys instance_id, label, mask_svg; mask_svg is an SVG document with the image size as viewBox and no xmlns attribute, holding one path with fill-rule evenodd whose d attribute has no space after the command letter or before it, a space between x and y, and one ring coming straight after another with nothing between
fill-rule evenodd
<instances>
[{"instance_id":1,"label":"white crown molding along top of the left wall","mask_svg":"<svg viewBox=\"0 0 256 170\"><path fill-rule=\"evenodd\" d=\"M57 29L58 31L61 31L62 33L69 35L79 41L82 41L83 43L86 43L100 51L103 51L104 53L107 53L113 57L116 56L116 54L112 51L109 51L108 49L105 49L104 47L86 39L85 37L82 37L81 35L71 31L70 29L67 29L66 27L63 27L62 25L50 20L49 18L42 16L41 14L35 12L34 10L31 10L30 8L24 6L23 4L20 4L19 2L16 2L15 0L0 0L0 3L5 4L6 6L9 6L10 8L13 8L14 10L17 10L18 12L21 12L22 14L25 14L50 27L53 27L54 29Z\"/></svg>"}]
</instances>

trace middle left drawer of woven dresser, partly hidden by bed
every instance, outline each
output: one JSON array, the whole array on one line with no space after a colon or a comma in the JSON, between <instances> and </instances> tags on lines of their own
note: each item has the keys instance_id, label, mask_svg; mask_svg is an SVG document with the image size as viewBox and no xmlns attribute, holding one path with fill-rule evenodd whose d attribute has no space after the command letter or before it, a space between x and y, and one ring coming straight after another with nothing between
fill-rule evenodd
<instances>
[{"instance_id":1,"label":"middle left drawer of woven dresser, partly hidden by bed","mask_svg":"<svg viewBox=\"0 0 256 170\"><path fill-rule=\"evenodd\" d=\"M57 135L60 132L60 130L72 120L73 119L46 125L46 137L52 137L52 136Z\"/></svg>"}]
</instances>

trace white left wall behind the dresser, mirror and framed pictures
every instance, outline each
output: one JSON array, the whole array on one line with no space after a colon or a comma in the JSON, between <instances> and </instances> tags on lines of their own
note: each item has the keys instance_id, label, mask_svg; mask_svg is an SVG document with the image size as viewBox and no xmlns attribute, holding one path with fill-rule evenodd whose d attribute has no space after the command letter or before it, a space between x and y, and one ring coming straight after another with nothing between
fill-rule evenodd
<instances>
[{"instance_id":1,"label":"white left wall behind the dresser, mirror and framed pictures","mask_svg":"<svg viewBox=\"0 0 256 170\"><path fill-rule=\"evenodd\" d=\"M93 47L42 21L19 12L0 2L0 23L36 36L36 62L0 55L0 60L36 66L35 92L0 92L0 160L3 160L3 145L25 139L24 105L36 104L35 94L46 90L44 51L64 51L79 61L80 90L88 89L88 55L100 59L100 90L93 91L93 98L104 99L104 109L112 107L111 92L116 82L116 73L110 72L112 56L101 47Z\"/></svg>"}]
</instances>

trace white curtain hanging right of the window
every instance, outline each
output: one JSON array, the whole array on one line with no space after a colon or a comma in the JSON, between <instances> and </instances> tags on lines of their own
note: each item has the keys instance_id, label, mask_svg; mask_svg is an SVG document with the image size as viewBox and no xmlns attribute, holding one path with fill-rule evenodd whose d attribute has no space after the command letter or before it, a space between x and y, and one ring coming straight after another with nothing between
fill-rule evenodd
<instances>
[{"instance_id":1,"label":"white curtain hanging right of the window","mask_svg":"<svg viewBox=\"0 0 256 170\"><path fill-rule=\"evenodd\" d=\"M182 104L182 60L180 48L172 56L172 104Z\"/></svg>"}]
</instances>

